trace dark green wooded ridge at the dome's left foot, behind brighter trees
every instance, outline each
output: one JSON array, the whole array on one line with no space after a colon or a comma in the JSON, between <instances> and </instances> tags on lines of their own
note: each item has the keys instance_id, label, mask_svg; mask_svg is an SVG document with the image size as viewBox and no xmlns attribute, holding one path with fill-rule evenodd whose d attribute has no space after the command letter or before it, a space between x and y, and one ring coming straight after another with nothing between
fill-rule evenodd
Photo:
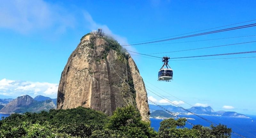
<instances>
[{"instance_id":1,"label":"dark green wooded ridge at the dome's left foot, behind brighter trees","mask_svg":"<svg viewBox=\"0 0 256 138\"><path fill-rule=\"evenodd\" d=\"M95 124L103 127L108 120L108 116L100 111L95 111L90 108L77 107L72 109L51 109L49 112L42 111L41 113L25 113L22 114L12 114L6 117L2 123L8 125L19 125L24 121L29 121L31 123L43 124L48 121L49 124L55 126L62 126L63 124L68 124L72 122L85 123L85 124Z\"/></svg>"}]
</instances>

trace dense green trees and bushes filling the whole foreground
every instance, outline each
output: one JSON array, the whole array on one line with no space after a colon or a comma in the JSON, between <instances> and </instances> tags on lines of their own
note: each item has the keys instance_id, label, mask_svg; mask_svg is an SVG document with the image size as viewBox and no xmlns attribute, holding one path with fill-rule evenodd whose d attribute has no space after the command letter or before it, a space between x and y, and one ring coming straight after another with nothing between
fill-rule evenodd
<instances>
[{"instance_id":1,"label":"dense green trees and bushes filling the whole foreground","mask_svg":"<svg viewBox=\"0 0 256 138\"><path fill-rule=\"evenodd\" d=\"M159 131L141 121L133 106L117 108L110 117L89 108L49 112L12 114L0 121L1 138L228 138L231 129L225 125L192 129L183 128L186 119L173 118L161 122Z\"/></svg>"}]
</instances>

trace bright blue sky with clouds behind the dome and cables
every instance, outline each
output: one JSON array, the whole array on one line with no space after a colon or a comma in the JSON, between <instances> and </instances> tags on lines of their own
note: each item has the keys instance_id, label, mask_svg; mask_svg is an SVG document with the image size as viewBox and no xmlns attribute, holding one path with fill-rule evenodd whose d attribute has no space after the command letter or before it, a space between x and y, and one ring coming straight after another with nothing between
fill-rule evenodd
<instances>
[{"instance_id":1,"label":"bright blue sky with clouds behind the dome and cables","mask_svg":"<svg viewBox=\"0 0 256 138\"><path fill-rule=\"evenodd\" d=\"M0 5L0 98L16 98L24 94L55 98L60 74L69 55L84 34L98 27L120 44L132 44L254 20L255 5L256 1L253 0L232 3L172 0L3 1ZM238 25L252 23L256 21ZM147 54L227 45L255 41L255 36L229 38L256 35L255 32L256 27L250 27L161 42L161 45L155 43L125 48ZM216 38L229 39L177 43ZM255 50L255 43L250 43L154 56L167 55L172 58ZM256 55L251 53L209 58L250 56ZM174 80L158 82L161 60L136 55L132 57L148 89L153 88L183 107L191 106L179 99L191 105L211 106L215 111L256 114L256 58L170 61ZM148 97L159 104L169 104L151 92L148 92Z\"/></svg>"}]
</instances>

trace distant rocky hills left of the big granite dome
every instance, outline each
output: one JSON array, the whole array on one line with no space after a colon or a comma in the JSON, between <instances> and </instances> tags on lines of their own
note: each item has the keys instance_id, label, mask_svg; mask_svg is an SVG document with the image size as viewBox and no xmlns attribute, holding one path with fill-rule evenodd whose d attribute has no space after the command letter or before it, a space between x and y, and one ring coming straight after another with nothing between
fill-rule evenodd
<instances>
[{"instance_id":1,"label":"distant rocky hills left of the big granite dome","mask_svg":"<svg viewBox=\"0 0 256 138\"><path fill-rule=\"evenodd\" d=\"M29 95L17 97L16 99L5 105L1 113L25 113L25 112L41 112L55 109L56 106L51 99L45 101L36 101Z\"/></svg>"}]
</instances>

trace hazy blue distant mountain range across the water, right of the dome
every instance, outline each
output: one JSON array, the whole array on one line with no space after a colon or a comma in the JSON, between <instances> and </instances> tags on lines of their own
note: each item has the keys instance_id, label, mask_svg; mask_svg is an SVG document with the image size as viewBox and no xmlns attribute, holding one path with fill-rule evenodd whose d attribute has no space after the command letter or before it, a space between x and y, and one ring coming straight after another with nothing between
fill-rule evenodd
<instances>
[{"instance_id":1,"label":"hazy blue distant mountain range across the water, right of the dome","mask_svg":"<svg viewBox=\"0 0 256 138\"><path fill-rule=\"evenodd\" d=\"M174 112L175 114L191 114L191 113L188 112L188 111L190 111L190 112L195 113L195 114L219 115L219 116L225 116L225 117L249 118L249 117L247 117L244 114L238 114L236 112L226 112L226 111L214 112L214 110L210 106L208 106L208 107L191 107L189 109L186 109L188 111L182 109L181 107L175 107L175 106L172 106L172 105L161 105L161 106L164 107L165 109L171 111L171 112ZM158 107L156 105L149 104L149 111L150 111L150 113L159 112L159 110L162 110L162 108L160 108L160 107ZM158 113L154 113L154 114L158 114ZM164 116L164 117L168 118L167 116Z\"/></svg>"}]
</instances>

